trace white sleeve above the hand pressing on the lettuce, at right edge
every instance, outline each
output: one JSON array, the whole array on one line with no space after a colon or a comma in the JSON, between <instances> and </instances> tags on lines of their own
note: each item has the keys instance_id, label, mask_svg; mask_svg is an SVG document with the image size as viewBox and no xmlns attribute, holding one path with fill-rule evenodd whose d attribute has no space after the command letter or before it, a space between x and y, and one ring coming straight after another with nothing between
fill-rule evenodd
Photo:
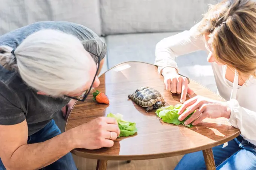
<instances>
[{"instance_id":1,"label":"white sleeve above the hand pressing on the lettuce, at right edge","mask_svg":"<svg viewBox=\"0 0 256 170\"><path fill-rule=\"evenodd\" d=\"M238 128L245 140L256 144L256 112L241 107L236 99L227 101L231 108L229 122Z\"/></svg>"}]
</instances>

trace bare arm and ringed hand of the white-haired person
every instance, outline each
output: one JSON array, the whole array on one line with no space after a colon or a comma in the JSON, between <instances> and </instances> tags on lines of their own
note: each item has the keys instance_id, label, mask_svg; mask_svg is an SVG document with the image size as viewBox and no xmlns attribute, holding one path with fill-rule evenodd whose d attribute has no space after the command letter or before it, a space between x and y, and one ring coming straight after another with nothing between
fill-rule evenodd
<instances>
[{"instance_id":1,"label":"bare arm and ringed hand of the white-haired person","mask_svg":"<svg viewBox=\"0 0 256 170\"><path fill-rule=\"evenodd\" d=\"M99 117L49 140L27 144L28 129L24 120L16 125L0 125L0 157L6 169L41 169L75 148L111 147L119 134L116 119Z\"/></svg>"}]
</instances>

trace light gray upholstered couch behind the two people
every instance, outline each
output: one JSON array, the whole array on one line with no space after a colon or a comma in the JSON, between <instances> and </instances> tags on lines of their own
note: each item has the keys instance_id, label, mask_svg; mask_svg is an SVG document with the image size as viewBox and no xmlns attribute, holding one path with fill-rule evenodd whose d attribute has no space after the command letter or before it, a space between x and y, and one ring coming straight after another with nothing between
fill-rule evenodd
<instances>
[{"instance_id":1,"label":"light gray upholstered couch behind the two people","mask_svg":"<svg viewBox=\"0 0 256 170\"><path fill-rule=\"evenodd\" d=\"M220 0L0 0L0 35L37 21L87 26L107 43L102 72L126 61L154 64L161 39L190 29ZM180 73L216 92L206 53L177 58ZM203 69L203 71L200 69ZM63 130L64 124L59 123Z\"/></svg>"}]
</instances>

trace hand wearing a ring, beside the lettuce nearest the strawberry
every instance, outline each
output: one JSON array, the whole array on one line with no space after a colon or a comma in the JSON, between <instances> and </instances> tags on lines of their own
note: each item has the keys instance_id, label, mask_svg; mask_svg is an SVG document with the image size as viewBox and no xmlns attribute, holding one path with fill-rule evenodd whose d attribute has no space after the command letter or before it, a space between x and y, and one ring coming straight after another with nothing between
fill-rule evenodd
<instances>
[{"instance_id":1,"label":"hand wearing a ring, beside the lettuce nearest the strawberry","mask_svg":"<svg viewBox=\"0 0 256 170\"><path fill-rule=\"evenodd\" d=\"M112 147L119 134L118 123L111 117L98 117L72 129L75 148Z\"/></svg>"}]
</instances>

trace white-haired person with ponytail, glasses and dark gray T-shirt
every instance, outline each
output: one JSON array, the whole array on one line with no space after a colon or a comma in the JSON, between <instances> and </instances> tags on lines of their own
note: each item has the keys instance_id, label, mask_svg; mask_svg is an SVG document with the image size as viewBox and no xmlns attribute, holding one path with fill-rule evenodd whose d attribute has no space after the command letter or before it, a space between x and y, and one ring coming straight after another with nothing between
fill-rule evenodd
<instances>
[{"instance_id":1,"label":"white-haired person with ponytail, glasses and dark gray T-shirt","mask_svg":"<svg viewBox=\"0 0 256 170\"><path fill-rule=\"evenodd\" d=\"M70 150L113 146L115 119L62 134L53 120L99 86L105 54L99 37L75 23L39 22L0 36L0 170L76 170Z\"/></svg>"}]
</instances>

